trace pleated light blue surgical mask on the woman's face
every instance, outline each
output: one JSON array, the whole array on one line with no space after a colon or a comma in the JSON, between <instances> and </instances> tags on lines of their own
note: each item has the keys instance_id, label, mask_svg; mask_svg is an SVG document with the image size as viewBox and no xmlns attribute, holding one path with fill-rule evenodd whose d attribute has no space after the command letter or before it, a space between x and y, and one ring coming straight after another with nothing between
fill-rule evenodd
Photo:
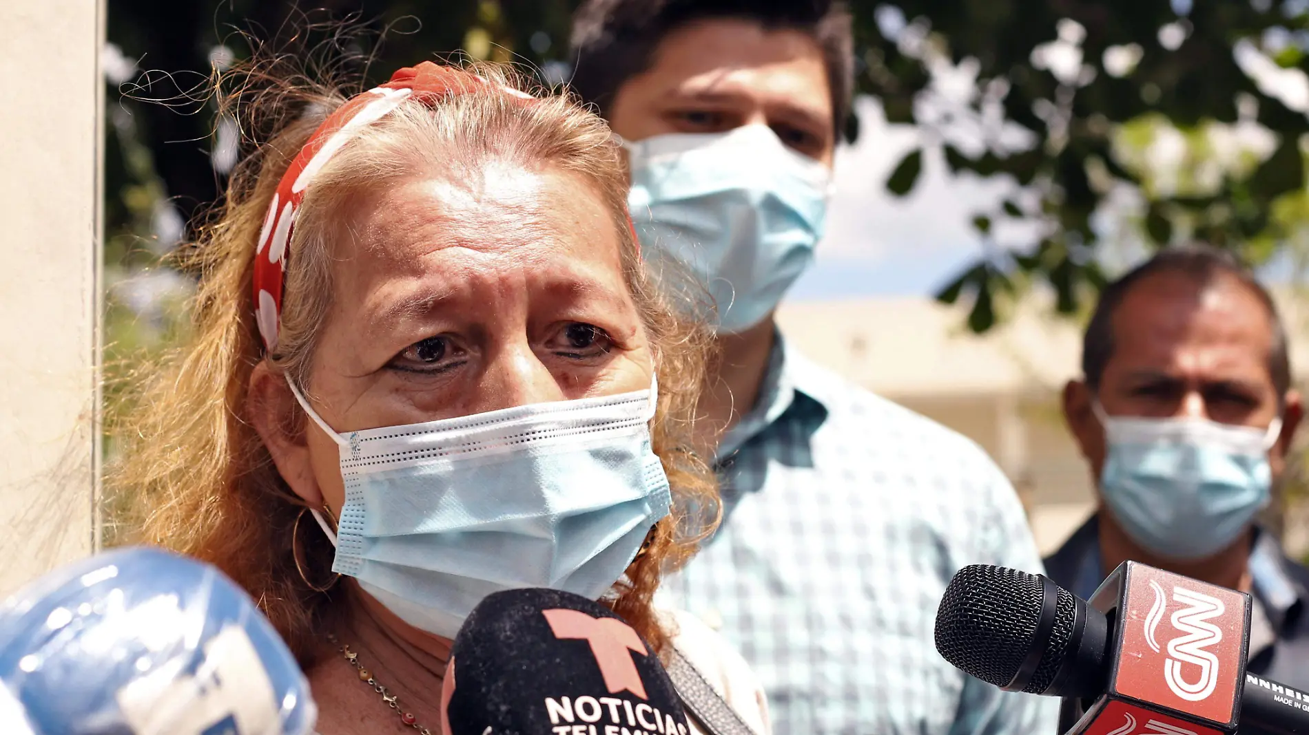
<instances>
[{"instance_id":1,"label":"pleated light blue surgical mask on the woman's face","mask_svg":"<svg viewBox=\"0 0 1309 735\"><path fill-rule=\"evenodd\" d=\"M453 638L487 595L551 587L600 599L668 515L651 449L656 386L338 434L346 502L332 572L401 620Z\"/></svg>"}]
</instances>

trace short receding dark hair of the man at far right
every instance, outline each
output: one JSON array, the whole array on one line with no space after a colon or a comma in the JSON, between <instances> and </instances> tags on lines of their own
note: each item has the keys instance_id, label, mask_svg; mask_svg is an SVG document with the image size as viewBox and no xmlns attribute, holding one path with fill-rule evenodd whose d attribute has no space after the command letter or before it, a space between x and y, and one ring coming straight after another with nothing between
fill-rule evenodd
<instances>
[{"instance_id":1,"label":"short receding dark hair of the man at far right","mask_svg":"<svg viewBox=\"0 0 1309 735\"><path fill-rule=\"evenodd\" d=\"M1109 364L1109 358L1114 353L1114 313L1132 286L1158 275L1186 277L1195 284L1198 290L1204 290L1221 279L1232 279L1255 294L1267 310L1268 324L1272 328L1272 344L1268 349L1268 373L1272 377L1272 387L1278 391L1279 399L1287 394L1291 388L1291 358L1287 350L1287 332L1282 326L1282 316L1278 315L1278 307L1272 303L1272 297L1234 255L1208 245L1187 245L1162 250L1109 284L1100 294L1100 302L1090 316L1090 323L1086 324L1086 333L1081 343L1081 371L1092 391L1100 390L1105 365Z\"/></svg>"}]
</instances>

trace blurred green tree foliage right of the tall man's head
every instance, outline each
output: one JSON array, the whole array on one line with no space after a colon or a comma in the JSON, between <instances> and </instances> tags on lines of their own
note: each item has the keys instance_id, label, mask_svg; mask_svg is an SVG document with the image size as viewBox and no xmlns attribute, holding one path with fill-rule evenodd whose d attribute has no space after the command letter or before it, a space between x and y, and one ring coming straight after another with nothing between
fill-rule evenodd
<instances>
[{"instance_id":1,"label":"blurred green tree foliage right of the tall man's head","mask_svg":"<svg viewBox=\"0 0 1309 735\"><path fill-rule=\"evenodd\" d=\"M942 289L988 330L1037 282L1073 314L1105 282L1097 248L1128 221L1140 242L1189 238L1253 263L1302 245L1309 3L953 0L857 3L864 90L912 123L954 171L1009 177L1024 196L974 226L1042 233ZM912 188L911 152L888 180Z\"/></svg>"}]
</instances>

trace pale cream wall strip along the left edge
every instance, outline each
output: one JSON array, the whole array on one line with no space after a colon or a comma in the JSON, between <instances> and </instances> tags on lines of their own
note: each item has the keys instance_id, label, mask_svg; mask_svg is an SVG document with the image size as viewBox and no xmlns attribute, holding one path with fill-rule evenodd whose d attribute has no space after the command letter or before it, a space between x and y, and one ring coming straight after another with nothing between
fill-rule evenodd
<instances>
[{"instance_id":1,"label":"pale cream wall strip along the left edge","mask_svg":"<svg viewBox=\"0 0 1309 735\"><path fill-rule=\"evenodd\" d=\"M103 17L0 1L0 592L94 548Z\"/></svg>"}]
</instances>

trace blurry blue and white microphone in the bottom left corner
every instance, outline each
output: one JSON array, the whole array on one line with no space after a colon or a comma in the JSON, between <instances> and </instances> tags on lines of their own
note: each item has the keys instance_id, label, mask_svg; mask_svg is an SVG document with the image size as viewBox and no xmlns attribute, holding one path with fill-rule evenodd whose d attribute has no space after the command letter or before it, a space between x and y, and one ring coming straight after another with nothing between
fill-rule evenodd
<instances>
[{"instance_id":1,"label":"blurry blue and white microphone in the bottom left corner","mask_svg":"<svg viewBox=\"0 0 1309 735\"><path fill-rule=\"evenodd\" d=\"M315 721L295 657L207 564L118 549L0 604L7 735L308 735Z\"/></svg>"}]
</instances>

